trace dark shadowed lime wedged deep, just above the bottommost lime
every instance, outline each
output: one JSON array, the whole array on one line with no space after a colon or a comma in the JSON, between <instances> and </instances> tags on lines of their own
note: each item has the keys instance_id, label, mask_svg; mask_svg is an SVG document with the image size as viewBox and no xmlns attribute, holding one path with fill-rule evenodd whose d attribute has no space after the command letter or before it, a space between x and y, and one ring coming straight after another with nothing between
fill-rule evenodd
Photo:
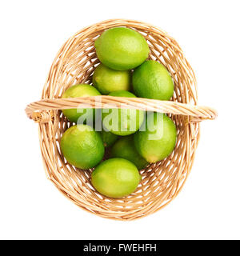
<instances>
[{"instance_id":1,"label":"dark shadowed lime wedged deep, just above the bottommost lime","mask_svg":"<svg viewBox=\"0 0 240 256\"><path fill-rule=\"evenodd\" d=\"M115 142L114 146L112 146L110 151L111 158L125 158L130 162L133 162L135 166L138 167L138 170L142 170L148 164L144 158L134 146L134 136L126 136L124 138L119 138L117 142Z\"/></svg>"}]
</instances>

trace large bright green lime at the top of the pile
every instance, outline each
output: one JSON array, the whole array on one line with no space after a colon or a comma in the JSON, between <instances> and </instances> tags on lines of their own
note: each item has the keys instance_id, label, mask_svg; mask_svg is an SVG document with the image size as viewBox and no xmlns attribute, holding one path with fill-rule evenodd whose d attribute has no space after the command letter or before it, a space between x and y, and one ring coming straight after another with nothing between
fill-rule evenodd
<instances>
[{"instance_id":1,"label":"large bright green lime at the top of the pile","mask_svg":"<svg viewBox=\"0 0 240 256\"><path fill-rule=\"evenodd\" d=\"M142 34L126 27L105 30L95 42L100 62L113 70L131 70L146 60L149 47Z\"/></svg>"}]
</instances>

